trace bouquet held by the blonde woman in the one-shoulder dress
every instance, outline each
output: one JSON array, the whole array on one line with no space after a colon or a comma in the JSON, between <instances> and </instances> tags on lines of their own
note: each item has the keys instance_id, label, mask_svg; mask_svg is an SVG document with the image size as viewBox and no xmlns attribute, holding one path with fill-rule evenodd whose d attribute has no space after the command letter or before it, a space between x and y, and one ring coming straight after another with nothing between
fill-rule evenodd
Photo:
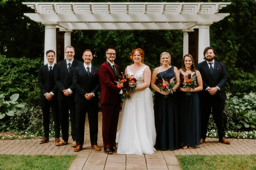
<instances>
[{"instance_id":1,"label":"bouquet held by the blonde woman in the one-shoulder dress","mask_svg":"<svg viewBox=\"0 0 256 170\"><path fill-rule=\"evenodd\" d=\"M167 78L167 79L163 79L162 80L158 79L157 82L157 87L159 87L160 92L163 90L166 92L165 98L168 97L168 95L171 93L173 94L173 92L175 92L175 90L173 89L173 87L177 84L175 82L175 77L173 78Z\"/></svg>"}]
</instances>

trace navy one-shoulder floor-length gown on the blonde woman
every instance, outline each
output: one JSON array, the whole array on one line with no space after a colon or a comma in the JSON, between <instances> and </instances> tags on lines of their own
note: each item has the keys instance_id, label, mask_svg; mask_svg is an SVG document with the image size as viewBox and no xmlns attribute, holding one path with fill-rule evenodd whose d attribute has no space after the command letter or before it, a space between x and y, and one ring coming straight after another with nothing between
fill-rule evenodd
<instances>
[{"instance_id":1,"label":"navy one-shoulder floor-length gown on the blonde woman","mask_svg":"<svg viewBox=\"0 0 256 170\"><path fill-rule=\"evenodd\" d=\"M162 80L175 77L174 66L157 74ZM169 94L167 98L161 93L155 92L154 114L155 129L157 133L155 148L161 150L173 150L178 148L178 118L177 118L177 94Z\"/></svg>"}]
</instances>

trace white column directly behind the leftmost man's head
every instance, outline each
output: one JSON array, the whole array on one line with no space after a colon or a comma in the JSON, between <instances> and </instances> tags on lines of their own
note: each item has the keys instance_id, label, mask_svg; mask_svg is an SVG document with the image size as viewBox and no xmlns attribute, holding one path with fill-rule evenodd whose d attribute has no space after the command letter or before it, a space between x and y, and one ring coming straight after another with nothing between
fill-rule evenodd
<instances>
[{"instance_id":1,"label":"white column directly behind the leftmost man's head","mask_svg":"<svg viewBox=\"0 0 256 170\"><path fill-rule=\"evenodd\" d=\"M44 64L47 64L46 51L54 50L56 53L56 26L57 23L43 23L45 25ZM56 58L55 58L56 62Z\"/></svg>"}]
</instances>

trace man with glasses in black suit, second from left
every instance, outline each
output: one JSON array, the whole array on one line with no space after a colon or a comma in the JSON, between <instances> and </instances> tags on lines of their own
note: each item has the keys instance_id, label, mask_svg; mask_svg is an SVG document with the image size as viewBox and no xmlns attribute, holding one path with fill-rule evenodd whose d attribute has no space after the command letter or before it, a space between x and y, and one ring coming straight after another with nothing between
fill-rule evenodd
<instances>
[{"instance_id":1,"label":"man with glasses in black suit, second from left","mask_svg":"<svg viewBox=\"0 0 256 170\"><path fill-rule=\"evenodd\" d=\"M72 147L76 147L75 139L75 88L73 86L73 70L82 65L81 61L74 59L75 49L67 46L65 49L66 59L58 62L55 72L55 83L58 87L59 114L61 120L62 139L56 146L68 144L69 139L69 112L71 120Z\"/></svg>"}]
</instances>

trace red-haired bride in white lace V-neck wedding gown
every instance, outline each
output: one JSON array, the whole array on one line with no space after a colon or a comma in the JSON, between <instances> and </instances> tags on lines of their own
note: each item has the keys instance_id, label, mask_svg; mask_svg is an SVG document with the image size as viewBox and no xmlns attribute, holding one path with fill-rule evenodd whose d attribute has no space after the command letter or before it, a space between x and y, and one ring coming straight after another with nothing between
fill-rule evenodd
<instances>
[{"instance_id":1,"label":"red-haired bride in white lace V-neck wedding gown","mask_svg":"<svg viewBox=\"0 0 256 170\"><path fill-rule=\"evenodd\" d=\"M149 89L151 71L144 64L144 51L134 49L130 56L133 64L125 69L126 75L137 79L136 92L123 101L120 129L117 133L118 154L153 154L155 125L153 97Z\"/></svg>"}]
</instances>

